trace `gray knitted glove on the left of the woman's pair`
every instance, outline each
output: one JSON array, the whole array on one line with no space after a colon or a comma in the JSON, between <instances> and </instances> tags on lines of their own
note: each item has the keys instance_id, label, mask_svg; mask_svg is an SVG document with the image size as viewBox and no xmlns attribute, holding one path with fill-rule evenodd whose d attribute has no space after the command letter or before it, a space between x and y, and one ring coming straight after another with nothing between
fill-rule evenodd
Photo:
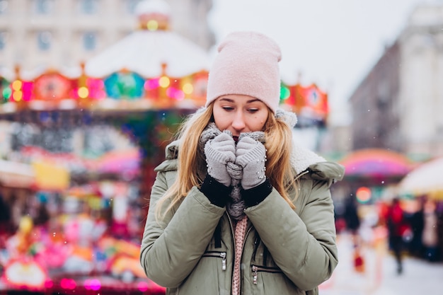
<instances>
[{"instance_id":1,"label":"gray knitted glove on the left of the woman's pair","mask_svg":"<svg viewBox=\"0 0 443 295\"><path fill-rule=\"evenodd\" d=\"M227 133L217 135L205 144L207 173L226 187L231 185L231 176L226 170L226 163L236 159L236 144Z\"/></svg>"}]
</instances>

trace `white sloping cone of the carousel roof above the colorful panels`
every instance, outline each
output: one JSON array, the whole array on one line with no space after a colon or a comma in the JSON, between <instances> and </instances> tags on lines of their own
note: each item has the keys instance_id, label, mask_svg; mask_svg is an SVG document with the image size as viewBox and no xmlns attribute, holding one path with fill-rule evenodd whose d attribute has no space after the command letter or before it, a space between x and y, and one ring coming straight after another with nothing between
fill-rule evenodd
<instances>
[{"instance_id":1,"label":"white sloping cone of the carousel roof above the colorful panels","mask_svg":"<svg viewBox=\"0 0 443 295\"><path fill-rule=\"evenodd\" d=\"M209 54L171 31L137 30L86 62L87 76L103 78L126 69L154 78L182 77L209 70ZM163 73L163 64L166 72Z\"/></svg>"}]
</instances>

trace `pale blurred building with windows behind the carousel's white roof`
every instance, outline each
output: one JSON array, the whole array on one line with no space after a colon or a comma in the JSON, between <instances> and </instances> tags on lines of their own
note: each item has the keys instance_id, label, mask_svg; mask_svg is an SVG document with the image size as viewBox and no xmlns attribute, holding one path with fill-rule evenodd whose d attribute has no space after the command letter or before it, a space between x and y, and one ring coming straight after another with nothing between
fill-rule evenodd
<instances>
[{"instance_id":1,"label":"pale blurred building with windows behind the carousel's white roof","mask_svg":"<svg viewBox=\"0 0 443 295\"><path fill-rule=\"evenodd\" d=\"M78 66L137 29L141 0L0 0L0 68ZM171 30L209 50L212 0L166 0Z\"/></svg>"}]
</instances>

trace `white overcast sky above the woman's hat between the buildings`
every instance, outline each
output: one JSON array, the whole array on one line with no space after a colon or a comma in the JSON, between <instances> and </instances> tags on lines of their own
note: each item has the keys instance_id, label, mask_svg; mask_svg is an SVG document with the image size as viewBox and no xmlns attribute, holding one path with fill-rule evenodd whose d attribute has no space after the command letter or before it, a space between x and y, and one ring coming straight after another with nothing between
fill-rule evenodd
<instances>
[{"instance_id":1,"label":"white overcast sky above the woman's hat between the buildings","mask_svg":"<svg viewBox=\"0 0 443 295\"><path fill-rule=\"evenodd\" d=\"M442 0L214 0L209 25L217 43L256 30L282 48L285 83L316 83L328 92L330 123L350 122L347 99L405 28L417 4ZM301 76L299 76L299 74ZM300 77L300 78L299 78Z\"/></svg>"}]
</instances>

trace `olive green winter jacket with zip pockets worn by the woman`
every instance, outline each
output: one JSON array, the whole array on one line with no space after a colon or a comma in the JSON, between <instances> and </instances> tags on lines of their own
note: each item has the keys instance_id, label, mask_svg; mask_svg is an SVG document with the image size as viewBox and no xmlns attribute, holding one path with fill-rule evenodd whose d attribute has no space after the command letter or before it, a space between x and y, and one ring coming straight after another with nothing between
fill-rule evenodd
<instances>
[{"instance_id":1,"label":"olive green winter jacket with zip pockets worn by the woman","mask_svg":"<svg viewBox=\"0 0 443 295\"><path fill-rule=\"evenodd\" d=\"M140 261L147 277L166 294L231 295L234 269L232 220L192 187L188 196L156 221L156 202L176 178L178 143L166 148L156 168ZM338 264L333 201L329 187L344 169L311 151L297 148L292 165L299 197L291 209L273 189L246 209L249 219L241 261L241 294L318 294ZM294 191L289 192L294 196ZM165 205L164 207L167 207Z\"/></svg>"}]
</instances>

